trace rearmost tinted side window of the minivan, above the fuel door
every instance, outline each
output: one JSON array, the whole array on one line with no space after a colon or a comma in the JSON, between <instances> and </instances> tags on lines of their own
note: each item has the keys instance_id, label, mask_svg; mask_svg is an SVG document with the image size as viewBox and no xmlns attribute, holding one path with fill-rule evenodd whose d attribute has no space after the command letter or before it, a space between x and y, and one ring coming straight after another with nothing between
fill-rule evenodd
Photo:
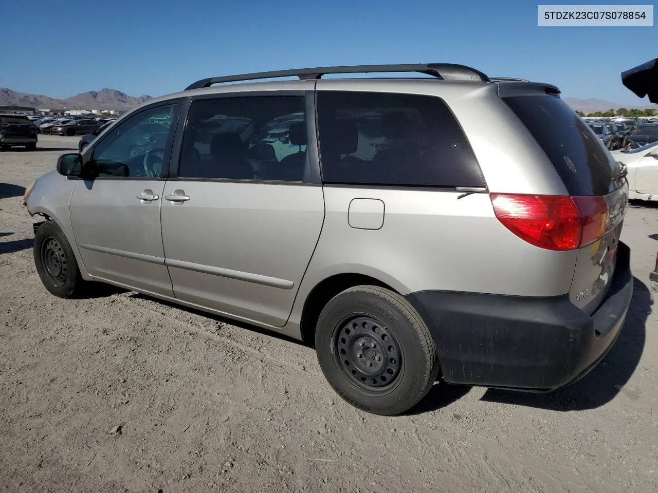
<instances>
[{"instance_id":1,"label":"rearmost tinted side window of the minivan, above the fuel door","mask_svg":"<svg viewBox=\"0 0 658 493\"><path fill-rule=\"evenodd\" d=\"M442 99L392 94L317 94L325 183L484 187L459 124Z\"/></svg>"}]
</instances>

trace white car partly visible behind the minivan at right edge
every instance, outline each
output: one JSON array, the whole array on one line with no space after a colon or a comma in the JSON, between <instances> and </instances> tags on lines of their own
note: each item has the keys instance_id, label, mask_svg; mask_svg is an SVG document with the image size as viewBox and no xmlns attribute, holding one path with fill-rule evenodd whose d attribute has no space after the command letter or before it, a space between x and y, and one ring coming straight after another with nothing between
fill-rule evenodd
<instances>
[{"instance_id":1,"label":"white car partly visible behind the minivan at right edge","mask_svg":"<svg viewBox=\"0 0 658 493\"><path fill-rule=\"evenodd\" d=\"M658 200L658 141L632 151L612 151L626 165L628 199Z\"/></svg>"}]
</instances>

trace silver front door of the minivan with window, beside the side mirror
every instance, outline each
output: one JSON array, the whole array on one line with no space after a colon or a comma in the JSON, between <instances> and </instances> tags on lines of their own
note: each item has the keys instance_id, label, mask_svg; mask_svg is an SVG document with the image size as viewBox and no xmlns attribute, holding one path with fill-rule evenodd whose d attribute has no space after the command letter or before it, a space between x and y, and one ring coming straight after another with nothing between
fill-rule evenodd
<instances>
[{"instance_id":1,"label":"silver front door of the minivan with window, beside the side mirror","mask_svg":"<svg viewBox=\"0 0 658 493\"><path fill-rule=\"evenodd\" d=\"M173 296L160 208L179 112L180 101L145 108L86 154L99 176L76 183L70 213L82 262L99 280ZM154 125L161 126L161 141L145 149Z\"/></svg>"}]
</instances>

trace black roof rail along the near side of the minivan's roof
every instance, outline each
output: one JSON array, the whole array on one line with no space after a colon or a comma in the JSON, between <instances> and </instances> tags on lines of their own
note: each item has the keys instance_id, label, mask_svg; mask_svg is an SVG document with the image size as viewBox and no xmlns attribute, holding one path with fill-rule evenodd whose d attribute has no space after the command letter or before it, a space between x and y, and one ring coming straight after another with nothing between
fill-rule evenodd
<instances>
[{"instance_id":1,"label":"black roof rail along the near side of the minivan's roof","mask_svg":"<svg viewBox=\"0 0 658 493\"><path fill-rule=\"evenodd\" d=\"M399 65L348 65L336 67L297 68L293 70L277 70L275 72L255 72L254 74L239 74L235 76L211 77L197 80L188 85L186 91L210 87L222 82L240 82L243 80L272 79L278 77L299 77L302 80L316 80L326 74L366 74L368 72L418 72L440 78L442 80L470 80L489 82L486 74L465 65L455 63L414 63Z\"/></svg>"}]
</instances>

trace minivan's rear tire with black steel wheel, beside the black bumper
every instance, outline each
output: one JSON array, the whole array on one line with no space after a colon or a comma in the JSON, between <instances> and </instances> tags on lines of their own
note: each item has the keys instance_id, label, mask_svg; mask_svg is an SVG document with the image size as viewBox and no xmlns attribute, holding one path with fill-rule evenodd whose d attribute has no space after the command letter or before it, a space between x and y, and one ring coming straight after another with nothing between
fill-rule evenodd
<instances>
[{"instance_id":1,"label":"minivan's rear tire with black steel wheel, beside the black bumper","mask_svg":"<svg viewBox=\"0 0 658 493\"><path fill-rule=\"evenodd\" d=\"M436 346L422 318L403 296L377 286L356 286L334 296L318 318L315 348L332 388L374 414L410 410L439 371Z\"/></svg>"}]
</instances>

